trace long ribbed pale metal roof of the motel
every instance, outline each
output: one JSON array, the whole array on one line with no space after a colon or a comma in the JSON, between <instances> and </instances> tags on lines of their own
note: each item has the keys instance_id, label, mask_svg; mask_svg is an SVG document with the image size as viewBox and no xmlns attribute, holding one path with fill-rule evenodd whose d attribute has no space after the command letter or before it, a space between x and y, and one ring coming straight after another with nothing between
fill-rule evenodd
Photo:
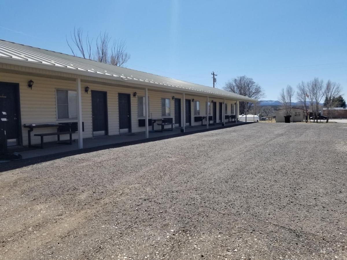
<instances>
[{"instance_id":1,"label":"long ribbed pale metal roof of the motel","mask_svg":"<svg viewBox=\"0 0 347 260\"><path fill-rule=\"evenodd\" d=\"M180 90L189 89L200 94L212 94L239 101L257 101L256 99L238 95L218 88L190 83L178 79L167 78L138 70L113 66L110 64L88 60L60 52L48 51L19 43L0 40L0 62L23 64L28 67L45 67L49 70L66 71L99 78L129 80L150 86L166 86ZM40 66L39 66L40 65Z\"/></svg>"}]
</instances>

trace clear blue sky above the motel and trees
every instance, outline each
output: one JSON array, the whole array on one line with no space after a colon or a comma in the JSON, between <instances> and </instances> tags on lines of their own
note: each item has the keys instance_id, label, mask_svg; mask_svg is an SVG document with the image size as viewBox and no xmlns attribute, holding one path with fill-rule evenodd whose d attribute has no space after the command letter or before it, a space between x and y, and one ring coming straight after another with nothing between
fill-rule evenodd
<instances>
[{"instance_id":1,"label":"clear blue sky above the motel and trees","mask_svg":"<svg viewBox=\"0 0 347 260\"><path fill-rule=\"evenodd\" d=\"M217 87L252 77L279 90L320 77L347 92L347 1L8 1L0 38L71 54L65 35L83 27L127 41L127 67Z\"/></svg>"}]
</instances>

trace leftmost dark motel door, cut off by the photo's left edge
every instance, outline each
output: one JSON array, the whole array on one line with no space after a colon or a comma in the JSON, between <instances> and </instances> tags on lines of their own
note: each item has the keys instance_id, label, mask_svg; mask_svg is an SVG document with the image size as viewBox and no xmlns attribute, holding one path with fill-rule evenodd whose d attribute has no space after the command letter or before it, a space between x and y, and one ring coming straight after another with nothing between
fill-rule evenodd
<instances>
[{"instance_id":1,"label":"leftmost dark motel door, cut off by the photo's left edge","mask_svg":"<svg viewBox=\"0 0 347 260\"><path fill-rule=\"evenodd\" d=\"M5 131L7 146L22 145L19 106L19 85L0 82L0 113L6 113Z\"/></svg>"}]
</instances>

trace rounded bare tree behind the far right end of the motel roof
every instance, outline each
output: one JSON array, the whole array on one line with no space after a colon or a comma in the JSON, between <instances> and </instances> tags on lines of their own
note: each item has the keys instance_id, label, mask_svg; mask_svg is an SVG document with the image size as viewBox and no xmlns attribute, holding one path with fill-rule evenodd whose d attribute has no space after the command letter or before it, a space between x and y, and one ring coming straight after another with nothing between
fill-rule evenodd
<instances>
[{"instance_id":1,"label":"rounded bare tree behind the far right end of the motel roof","mask_svg":"<svg viewBox=\"0 0 347 260\"><path fill-rule=\"evenodd\" d=\"M223 87L224 90L234 92L236 94L251 97L255 99L260 99L261 97L264 97L264 91L262 87L255 83L252 78L248 78L247 76L239 76L237 78L229 80L225 87ZM249 103L246 107L246 102L239 102L239 110L240 114L246 114L252 107L252 103Z\"/></svg>"}]
</instances>

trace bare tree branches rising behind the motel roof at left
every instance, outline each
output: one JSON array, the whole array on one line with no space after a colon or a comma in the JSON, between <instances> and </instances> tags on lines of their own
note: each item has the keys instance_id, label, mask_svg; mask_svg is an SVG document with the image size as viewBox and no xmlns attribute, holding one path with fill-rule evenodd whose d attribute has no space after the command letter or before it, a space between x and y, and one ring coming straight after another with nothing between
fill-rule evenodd
<instances>
[{"instance_id":1,"label":"bare tree branches rising behind the motel roof at left","mask_svg":"<svg viewBox=\"0 0 347 260\"><path fill-rule=\"evenodd\" d=\"M112 37L107 32L100 33L96 37L95 45L92 44L93 39L90 40L88 33L84 38L81 27L77 29L75 27L73 33L70 32L70 37L73 44L69 43L67 37L66 42L75 56L77 56L76 52L71 45L77 47L83 58L115 66L123 66L130 59L130 54L126 52L126 42L118 39L113 40L112 44L110 44Z\"/></svg>"}]
</instances>

